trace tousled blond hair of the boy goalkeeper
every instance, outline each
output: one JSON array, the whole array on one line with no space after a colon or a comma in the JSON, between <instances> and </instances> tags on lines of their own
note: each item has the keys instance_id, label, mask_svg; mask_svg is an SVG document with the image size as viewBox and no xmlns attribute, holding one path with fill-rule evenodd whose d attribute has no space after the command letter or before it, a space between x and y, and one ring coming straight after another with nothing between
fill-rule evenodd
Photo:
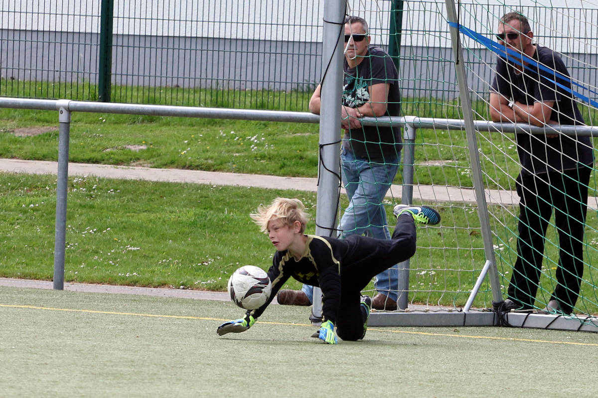
<instances>
[{"instance_id":1,"label":"tousled blond hair of the boy goalkeeper","mask_svg":"<svg viewBox=\"0 0 598 398\"><path fill-rule=\"evenodd\" d=\"M255 224L260 226L260 231L268 233L268 222L282 220L286 225L293 225L295 221L301 223L301 233L305 231L309 215L305 206L298 199L276 198L270 206L260 206L256 213L249 215Z\"/></svg>"}]
</instances>

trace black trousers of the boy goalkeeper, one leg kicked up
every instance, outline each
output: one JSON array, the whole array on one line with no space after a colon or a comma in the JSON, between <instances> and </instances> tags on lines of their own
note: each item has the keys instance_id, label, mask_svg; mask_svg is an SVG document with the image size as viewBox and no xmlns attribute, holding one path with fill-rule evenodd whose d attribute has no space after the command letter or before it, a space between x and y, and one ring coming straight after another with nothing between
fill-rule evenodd
<instances>
[{"instance_id":1,"label":"black trousers of the boy goalkeeper, one leg kicked up","mask_svg":"<svg viewBox=\"0 0 598 398\"><path fill-rule=\"evenodd\" d=\"M375 275L415 254L416 227L413 217L404 214L396 220L390 240L362 235L349 235L346 240L352 240L355 246L341 268L341 302L336 326L341 339L355 341L364 333L361 290Z\"/></svg>"}]
</instances>

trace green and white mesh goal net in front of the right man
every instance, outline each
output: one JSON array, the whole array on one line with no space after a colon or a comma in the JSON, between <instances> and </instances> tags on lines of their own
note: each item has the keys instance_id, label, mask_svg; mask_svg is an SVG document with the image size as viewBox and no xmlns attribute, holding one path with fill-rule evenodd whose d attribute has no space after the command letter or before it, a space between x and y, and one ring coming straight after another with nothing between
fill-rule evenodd
<instances>
[{"instance_id":1,"label":"green and white mesh goal net in front of the right man","mask_svg":"<svg viewBox=\"0 0 598 398\"><path fill-rule=\"evenodd\" d=\"M565 0L559 7L546 7L535 1L518 4L459 2L453 7L455 20L450 20L444 2L347 2L347 14L368 20L371 44L396 56L401 116L415 117L411 124L415 130L413 142L405 141L401 170L385 200L387 213L390 215L392 206L402 201L435 206L442 216L439 226L418 229L417 253L408 264L406 310L459 311L471 299L472 311L493 308L496 300L488 277L476 287L477 294L474 291L489 260L483 238L488 232L492 237L494 258L491 260L496 262L502 298L522 302L523 309L531 314L544 310L556 299L563 311L553 313L581 323L593 323L591 317L584 316L598 313L598 220L591 161L591 135L598 131L592 128L596 123L598 94L598 4ZM497 60L500 56L508 58L505 43L496 33L503 32L499 29L501 17L513 11L529 20L533 45L550 48L562 59L570 83L566 82L568 76L554 72L554 62L546 66L533 65L531 54L529 59L523 59L524 65L518 73L526 81L536 79L542 93L554 87L559 101L568 99L579 109L583 127L579 123L578 128L568 129L562 128L562 124L570 123L548 122L540 124L543 127L526 129L534 124L531 117L518 118L517 125L507 120L491 123L490 87L500 72ZM459 29L458 43L451 41L451 27ZM508 36L505 39L508 41ZM516 59L508 60L508 65L509 62L517 63ZM463 68L464 81L459 81L456 67ZM553 76L557 81L546 81L545 76ZM459 84L465 86L471 102L466 108ZM502 95L507 102L502 105L505 108L512 97L518 98L512 93ZM533 106L534 101L529 103ZM569 120L562 107L554 112L548 114L549 118L559 115L562 120ZM477 142L474 152L478 159L471 157L468 120L474 126ZM380 125L382 123L383 118L380 118ZM542 156L539 152L530 152L526 146L522 148L526 139L527 145L532 145L536 152L540 143L547 145L547 139L549 146L556 140L559 145L574 149L572 152L563 149L557 156L557 152L549 148L545 149L548 155ZM413 154L412 163L409 151ZM587 161L588 156L590 161ZM528 161L533 163L533 169ZM577 168L575 172L567 172L571 164ZM405 180L410 177L405 174L409 169L413 173L412 183ZM550 178L538 179L542 172ZM589 180L582 175L586 172ZM476 173L481 177L484 200L475 195ZM518 179L520 174L524 176L523 183ZM556 178L558 176L560 178ZM546 186L539 186L541 180L547 179ZM404 183L413 189L412 198L405 197ZM529 183L533 186L526 185ZM523 214L522 190L528 201ZM582 202L588 204L585 220ZM578 216L571 216L574 214ZM484 217L489 221L489 231L484 231ZM391 226L392 219L389 216ZM579 234L579 225L585 233ZM542 228L546 228L545 233ZM577 232L571 232L575 228ZM517 268L518 261L521 264ZM509 290L514 273L518 283Z\"/></svg>"}]
</instances>

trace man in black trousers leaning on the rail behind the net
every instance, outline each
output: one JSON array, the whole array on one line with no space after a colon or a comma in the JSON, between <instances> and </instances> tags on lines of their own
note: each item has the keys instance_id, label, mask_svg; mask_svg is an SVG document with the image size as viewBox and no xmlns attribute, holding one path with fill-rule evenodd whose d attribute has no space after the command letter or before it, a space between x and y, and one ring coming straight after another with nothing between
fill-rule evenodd
<instances>
[{"instance_id":1,"label":"man in black trousers leaning on the rail behind the net","mask_svg":"<svg viewBox=\"0 0 598 398\"><path fill-rule=\"evenodd\" d=\"M492 120L537 126L584 124L571 93L565 64L550 48L533 44L527 18L520 13L506 14L499 22L496 36L500 44L515 54L498 57L490 88ZM528 62L530 59L543 67L533 66ZM516 182L520 216L517 259L505 308L533 308L544 259L545 234L554 209L559 233L557 284L541 313L570 314L584 271L584 225L594 162L591 141L589 137L558 132L517 133L515 140L521 163Z\"/></svg>"}]
</instances>

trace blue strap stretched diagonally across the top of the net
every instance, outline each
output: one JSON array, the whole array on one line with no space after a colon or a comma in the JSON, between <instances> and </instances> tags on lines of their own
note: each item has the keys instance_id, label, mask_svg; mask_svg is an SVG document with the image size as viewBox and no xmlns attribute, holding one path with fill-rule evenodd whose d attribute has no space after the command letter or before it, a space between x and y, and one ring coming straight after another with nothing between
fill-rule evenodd
<instances>
[{"instance_id":1,"label":"blue strap stretched diagonally across the top of the net","mask_svg":"<svg viewBox=\"0 0 598 398\"><path fill-rule=\"evenodd\" d=\"M554 74L557 78L569 83L571 85L571 87L573 87L573 85L576 85L578 87L581 87L583 90L590 91L590 93L598 94L598 92L593 91L590 88L587 88L584 85L573 81L569 76L563 75L562 73L560 73L558 71L554 71L553 69L547 68L547 66L536 62L536 60L526 56L526 54L521 54L520 52L512 50L511 48L507 48L506 46L504 46L502 44L498 44L498 42L493 41L493 40L487 38L486 36L483 36L480 33L475 32L474 30L468 29L467 27L465 27L463 25L459 25L455 22L450 22L450 21L449 21L449 26L458 29L459 32L463 33L463 35L474 39L478 43L484 45L484 47L486 47L488 50L492 51L493 53L496 53L498 55L507 53L507 60L511 61L515 65L523 66L523 68L529 70L530 72L536 73L536 71L534 69L532 69L532 66L533 66L534 68L539 68L542 71L548 72L550 74ZM521 63L521 59L523 59L525 62L529 63L529 65L523 65ZM594 108L598 108L598 102L590 99L590 97L584 96L584 94L578 93L578 91L572 90L572 88L569 88L566 85L560 84L559 82L556 82L556 81L548 78L548 76L542 75L542 77L547 79L547 81L550 81L551 83L556 84L558 87L563 88L563 90L567 91L568 93L573 94L573 96L578 97L581 100L584 100L585 102L589 103Z\"/></svg>"}]
</instances>

